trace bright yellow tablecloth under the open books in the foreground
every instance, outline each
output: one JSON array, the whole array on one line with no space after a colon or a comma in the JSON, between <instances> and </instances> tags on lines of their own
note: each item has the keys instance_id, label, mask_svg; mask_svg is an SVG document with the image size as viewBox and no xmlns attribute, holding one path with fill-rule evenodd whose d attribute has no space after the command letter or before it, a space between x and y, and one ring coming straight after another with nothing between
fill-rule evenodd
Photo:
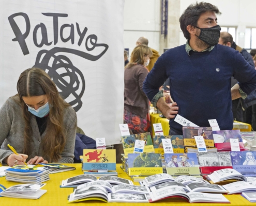
<instances>
[{"instance_id":1,"label":"bright yellow tablecloth under the open books in the foreground","mask_svg":"<svg viewBox=\"0 0 256 206\"><path fill-rule=\"evenodd\" d=\"M67 164L70 166L74 166L77 169L72 170L72 171L66 171L64 173L57 173L57 174L51 174L50 178L51 180L45 182L47 183L44 187L42 187L42 190L47 190L47 193L44 194L40 199L37 200L31 200L31 199L19 199L19 198L9 198L9 197L0 197L0 205L1 206L64 206L64 205L84 205L85 203L87 204L92 204L94 206L96 205L101 205L101 204L107 204L101 201L84 201L84 202L78 202L78 203L67 203L67 197L70 195L70 193L73 192L73 188L59 188L59 184L62 180L76 176L76 175L82 175L81 171L81 164ZM126 173L120 168L121 164L116 165L116 170L118 173L118 177L130 179L129 176L127 176ZM0 164L1 166L1 164ZM9 182L5 180L5 177L0 178L0 184L4 185L5 187L10 187L12 185L20 184L16 182ZM139 185L138 182L135 182L134 184ZM243 198L240 195L225 195L227 199L230 200L231 204L225 203L225 204L220 204L220 203L193 203L193 206L197 205L206 205L207 206L218 206L218 205L240 205L240 206L246 206L246 205L255 205L255 203L250 203L248 200ZM135 205L135 203L109 203L109 205ZM155 203L138 203L139 205L179 205L182 206L184 204L189 204L185 200L181 200L178 198L169 198L165 200L161 200Z\"/></svg>"}]
</instances>

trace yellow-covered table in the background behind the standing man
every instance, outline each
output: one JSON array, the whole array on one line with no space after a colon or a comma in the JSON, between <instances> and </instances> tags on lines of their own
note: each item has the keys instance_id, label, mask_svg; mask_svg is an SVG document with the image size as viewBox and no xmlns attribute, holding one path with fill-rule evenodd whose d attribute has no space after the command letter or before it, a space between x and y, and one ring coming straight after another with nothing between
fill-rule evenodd
<instances>
[{"instance_id":1,"label":"yellow-covered table in the background behind the standing man","mask_svg":"<svg viewBox=\"0 0 256 206\"><path fill-rule=\"evenodd\" d=\"M152 124L161 123L162 128L163 128L163 134L164 135L169 135L169 130L170 130L169 119L162 118L159 115L160 114L150 114L151 126L153 128ZM240 131L242 131L242 132L250 132L251 131L251 125L246 124L246 123L242 123L242 122L234 121L233 129L240 129ZM155 135L154 129L153 129L152 132L153 132L153 135Z\"/></svg>"}]
</instances>

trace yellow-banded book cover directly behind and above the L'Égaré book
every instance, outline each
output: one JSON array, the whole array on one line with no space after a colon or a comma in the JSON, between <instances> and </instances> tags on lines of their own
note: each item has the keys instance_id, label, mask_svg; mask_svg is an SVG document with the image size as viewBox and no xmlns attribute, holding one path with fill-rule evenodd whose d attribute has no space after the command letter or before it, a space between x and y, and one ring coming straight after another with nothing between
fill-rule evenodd
<instances>
[{"instance_id":1,"label":"yellow-banded book cover directly behind and above the L'\u00c9gar\u00e9 book","mask_svg":"<svg viewBox=\"0 0 256 206\"><path fill-rule=\"evenodd\" d=\"M156 135L156 136L153 136L154 149L155 149L156 153L161 153L161 154L164 153L162 139L171 139L174 153L184 153L183 135L169 135L169 136Z\"/></svg>"}]
</instances>

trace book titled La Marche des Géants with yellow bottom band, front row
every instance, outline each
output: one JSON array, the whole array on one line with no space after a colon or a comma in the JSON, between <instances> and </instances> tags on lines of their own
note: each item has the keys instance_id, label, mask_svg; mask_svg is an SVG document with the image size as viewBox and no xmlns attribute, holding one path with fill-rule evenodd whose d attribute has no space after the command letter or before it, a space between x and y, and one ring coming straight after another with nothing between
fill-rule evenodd
<instances>
[{"instance_id":1,"label":"book titled La Marche des G\u00e9ants with yellow bottom band, front row","mask_svg":"<svg viewBox=\"0 0 256 206\"><path fill-rule=\"evenodd\" d=\"M159 174L162 173L161 154L157 153L129 153L129 175Z\"/></svg>"}]
</instances>

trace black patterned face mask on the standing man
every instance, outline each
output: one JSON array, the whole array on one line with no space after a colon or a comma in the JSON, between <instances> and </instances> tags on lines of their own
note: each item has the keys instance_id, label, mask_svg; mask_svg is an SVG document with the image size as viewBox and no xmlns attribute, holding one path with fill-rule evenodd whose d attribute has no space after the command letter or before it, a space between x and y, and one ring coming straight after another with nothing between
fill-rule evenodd
<instances>
[{"instance_id":1,"label":"black patterned face mask on the standing man","mask_svg":"<svg viewBox=\"0 0 256 206\"><path fill-rule=\"evenodd\" d=\"M197 35L195 36L197 36L198 39L202 40L209 46L215 46L216 44L219 43L220 30L221 30L219 25L216 25L210 28L199 28L195 26L195 28L198 28L201 30L199 37Z\"/></svg>"}]
</instances>

